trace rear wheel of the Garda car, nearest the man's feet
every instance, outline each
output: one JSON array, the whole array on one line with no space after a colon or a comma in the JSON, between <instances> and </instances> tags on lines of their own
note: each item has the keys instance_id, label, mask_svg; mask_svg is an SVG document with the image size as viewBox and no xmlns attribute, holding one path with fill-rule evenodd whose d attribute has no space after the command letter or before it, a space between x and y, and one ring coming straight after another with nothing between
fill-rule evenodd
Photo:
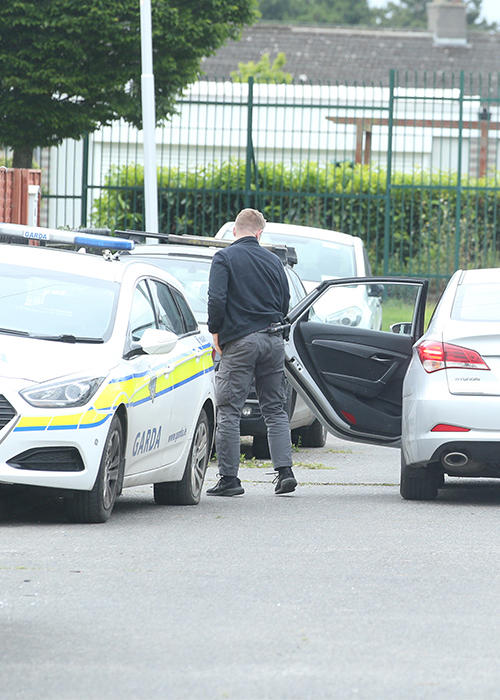
<instances>
[{"instance_id":1,"label":"rear wheel of the Garda car, nearest the man's feet","mask_svg":"<svg viewBox=\"0 0 500 700\"><path fill-rule=\"evenodd\" d=\"M184 476L181 481L154 484L155 503L160 506L195 506L200 502L211 444L210 425L202 410L194 429Z\"/></svg>"}]
</instances>

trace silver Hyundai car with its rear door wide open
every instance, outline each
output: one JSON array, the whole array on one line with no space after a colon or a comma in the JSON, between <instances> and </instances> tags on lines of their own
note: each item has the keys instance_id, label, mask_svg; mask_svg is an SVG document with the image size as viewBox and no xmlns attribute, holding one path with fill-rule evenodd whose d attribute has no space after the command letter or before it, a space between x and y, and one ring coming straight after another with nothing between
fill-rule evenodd
<instances>
[{"instance_id":1,"label":"silver Hyundai car with its rear door wide open","mask_svg":"<svg viewBox=\"0 0 500 700\"><path fill-rule=\"evenodd\" d=\"M349 286L380 300L380 330L318 321ZM427 281L325 281L290 313L290 383L340 437L401 447L400 492L444 475L500 477L500 268L457 271L424 334Z\"/></svg>"}]
</instances>

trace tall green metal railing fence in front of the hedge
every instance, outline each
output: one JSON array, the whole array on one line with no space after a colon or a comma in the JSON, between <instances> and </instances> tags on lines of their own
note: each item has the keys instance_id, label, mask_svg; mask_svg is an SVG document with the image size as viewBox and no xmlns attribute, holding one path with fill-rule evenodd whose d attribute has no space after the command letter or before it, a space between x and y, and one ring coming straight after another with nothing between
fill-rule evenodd
<instances>
[{"instance_id":1,"label":"tall green metal railing fence in front of the hedge","mask_svg":"<svg viewBox=\"0 0 500 700\"><path fill-rule=\"evenodd\" d=\"M243 206L363 238L378 273L500 265L499 76L387 85L200 82L157 130L160 230L214 235ZM142 134L42 157L50 225L143 228Z\"/></svg>"}]
</instances>

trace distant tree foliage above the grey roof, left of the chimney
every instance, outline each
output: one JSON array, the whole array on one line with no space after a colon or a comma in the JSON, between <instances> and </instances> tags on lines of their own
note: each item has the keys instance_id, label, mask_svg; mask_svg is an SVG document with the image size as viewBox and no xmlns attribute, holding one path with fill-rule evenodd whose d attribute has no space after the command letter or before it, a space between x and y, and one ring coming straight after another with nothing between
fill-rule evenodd
<instances>
[{"instance_id":1,"label":"distant tree foliage above the grey roof, left of the chimney","mask_svg":"<svg viewBox=\"0 0 500 700\"><path fill-rule=\"evenodd\" d=\"M370 24L367 0L261 0L262 19L316 24Z\"/></svg>"}]
</instances>

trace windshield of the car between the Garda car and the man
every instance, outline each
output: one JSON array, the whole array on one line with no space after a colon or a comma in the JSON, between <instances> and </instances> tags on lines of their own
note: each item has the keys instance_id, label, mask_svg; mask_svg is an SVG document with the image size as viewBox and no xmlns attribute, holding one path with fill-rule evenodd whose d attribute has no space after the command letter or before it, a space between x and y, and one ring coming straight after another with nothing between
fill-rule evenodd
<instances>
[{"instance_id":1,"label":"windshield of the car between the Garda car and the man","mask_svg":"<svg viewBox=\"0 0 500 700\"><path fill-rule=\"evenodd\" d=\"M184 286L187 300L198 323L207 323L208 277L210 275L211 259L174 258L170 255L146 256L141 260L158 265L175 277Z\"/></svg>"}]
</instances>

